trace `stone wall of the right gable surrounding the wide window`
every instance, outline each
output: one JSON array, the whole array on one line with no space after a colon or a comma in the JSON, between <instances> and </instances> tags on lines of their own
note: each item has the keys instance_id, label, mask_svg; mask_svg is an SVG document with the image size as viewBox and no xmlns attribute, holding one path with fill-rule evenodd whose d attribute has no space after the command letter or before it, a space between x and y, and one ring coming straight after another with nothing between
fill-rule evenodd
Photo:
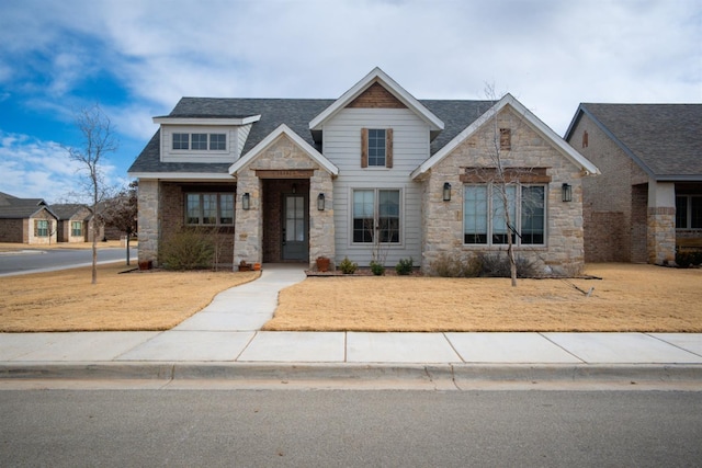
<instances>
[{"instance_id":1,"label":"stone wall of the right gable surrounding the wide window","mask_svg":"<svg viewBox=\"0 0 702 468\"><path fill-rule=\"evenodd\" d=\"M585 263L582 230L582 189L578 167L554 149L519 115L503 110L497 126L486 124L463 141L451 155L431 169L423 181L424 226L422 267L431 273L431 263L441 253L463 255L476 252L506 251L506 246L467 246L463 243L463 182L465 168L494 168L495 138L498 128L511 128L511 150L500 152L506 167L548 168L551 183L546 190L546 246L516 247L520 258L540 265L544 273L578 273ZM442 201L444 182L452 187L450 202ZM562 201L562 184L573 186L573 202Z\"/></svg>"}]
</instances>

